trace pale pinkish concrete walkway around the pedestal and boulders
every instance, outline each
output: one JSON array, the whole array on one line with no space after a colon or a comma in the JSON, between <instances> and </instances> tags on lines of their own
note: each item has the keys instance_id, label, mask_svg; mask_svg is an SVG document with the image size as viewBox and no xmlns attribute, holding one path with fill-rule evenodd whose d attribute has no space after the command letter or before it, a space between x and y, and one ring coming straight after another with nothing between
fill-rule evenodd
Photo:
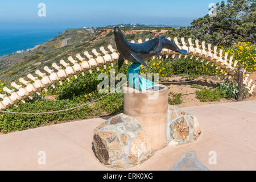
<instances>
[{"instance_id":1,"label":"pale pinkish concrete walkway around the pedestal and boulders","mask_svg":"<svg viewBox=\"0 0 256 182\"><path fill-rule=\"evenodd\" d=\"M184 107L199 119L196 142L166 147L140 166L126 170L170 170L180 157L195 151L210 170L256 170L256 101ZM106 118L105 118L106 119ZM0 136L0 170L112 170L92 151L93 129L103 118L39 127ZM46 152L40 165L39 151ZM216 164L209 155L216 154Z\"/></svg>"}]
</instances>

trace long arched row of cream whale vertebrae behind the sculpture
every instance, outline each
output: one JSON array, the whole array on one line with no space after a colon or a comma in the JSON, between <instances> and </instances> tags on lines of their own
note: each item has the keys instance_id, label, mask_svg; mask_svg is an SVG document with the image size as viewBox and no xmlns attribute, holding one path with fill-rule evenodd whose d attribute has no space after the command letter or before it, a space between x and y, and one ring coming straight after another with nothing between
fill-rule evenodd
<instances>
[{"instance_id":1,"label":"long arched row of cream whale vertebrae behind the sculpture","mask_svg":"<svg viewBox=\"0 0 256 182\"><path fill-rule=\"evenodd\" d=\"M167 39L171 40L171 38ZM238 61L233 60L232 56L229 57L229 53L226 52L223 57L223 50L220 49L219 53L217 53L217 46L214 46L212 51L212 44L208 44L208 46L206 47L205 42L201 42L200 45L199 40L195 40L195 44L193 44L192 38L189 38L187 40L187 43L185 42L184 38L181 38L180 40L181 43L179 43L179 40L177 38L174 38L175 44L180 49L185 49L187 52L191 53L191 59L192 57L196 57L197 60L200 58L202 63L206 60L206 64L210 64L212 66L214 64L217 64L217 69L221 68L221 72L226 72L225 75L237 75L235 69L237 69ZM142 40L139 39L138 43L142 43ZM0 101L0 110L5 110L10 105L16 106L19 101L22 101L24 103L24 98L26 97L32 99L31 96L33 93L37 93L38 95L40 95L39 91L41 89L47 90L47 86L49 85L52 85L52 87L54 88L55 82L59 82L60 84L62 84L62 80L67 79L67 81L69 81L69 77L71 76L75 76L75 78L77 78L77 74L81 73L82 75L84 75L85 71L89 71L90 73L92 73L93 68L96 68L97 71L99 71L100 65L103 65L106 68L106 64L110 63L113 67L114 63L118 61L119 54L117 50L115 50L111 45L108 46L108 49L109 51L106 51L103 46L100 47L100 52L102 52L104 56L101 56L101 53L97 52L96 49L93 49L92 53L96 56L96 58L90 55L88 51L85 51L83 54L87 57L87 61L85 57L80 55L80 53L77 53L76 58L79 59L80 63L78 63L77 60L74 60L72 56L69 56L68 61L70 61L73 66L71 66L69 63L66 63L64 60L60 60L60 64L65 67L65 69L62 69L61 66L57 65L57 63L52 63L52 68L56 69L57 72L55 72L54 69L50 69L48 67L43 68L44 71L49 73L49 76L47 76L46 73L42 73L38 69L35 71L35 74L40 76L42 79L32 76L31 73L27 75L27 78L29 80L32 80L33 83L24 78L19 78L19 82L26 86L18 85L15 82L11 82L11 86L16 88L18 91L15 92L14 89L9 89L6 86L3 88L3 91L9 93L10 96L7 96L7 94L0 94L0 98L2 98L2 101ZM181 57L181 55L183 55L183 53L174 52L170 49L162 49L161 53L163 55L166 55L166 57L172 55L172 58L174 58L175 55L179 55L179 58ZM184 57L187 56L188 55L184 55ZM249 94L252 94L255 85L251 85L251 82L253 80L248 81L247 78L248 76L246 76L245 80L243 80L242 83L247 84Z\"/></svg>"}]
</instances>

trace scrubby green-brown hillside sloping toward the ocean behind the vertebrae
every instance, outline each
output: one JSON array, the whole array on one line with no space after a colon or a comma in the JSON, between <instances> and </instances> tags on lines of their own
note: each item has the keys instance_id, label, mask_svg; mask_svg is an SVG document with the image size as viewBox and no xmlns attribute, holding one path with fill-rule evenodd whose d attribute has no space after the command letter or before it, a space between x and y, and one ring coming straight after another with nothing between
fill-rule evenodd
<instances>
[{"instance_id":1,"label":"scrubby green-brown hillside sloping toward the ocean behind the vertebrae","mask_svg":"<svg viewBox=\"0 0 256 182\"><path fill-rule=\"evenodd\" d=\"M166 27L169 29L169 27ZM128 40L138 40L152 38L162 32L162 28L143 28L143 30L129 31L126 29L125 34ZM157 33L156 33L157 32ZM67 46L61 47L64 39L68 39ZM44 66L51 67L53 62L59 63L61 59L70 63L68 56L75 56L76 53L82 53L87 50L93 55L93 48L114 44L114 36L111 28L98 28L94 34L84 29L68 29L64 34L60 34L48 42L32 49L28 52L13 53L0 57L0 80L6 83L18 80L19 77L26 77L28 73L35 73L36 69L43 71ZM100 52L100 51L98 51ZM75 57L74 57L75 58ZM72 63L71 63L72 65ZM53 68L52 68L53 69Z\"/></svg>"}]
</instances>

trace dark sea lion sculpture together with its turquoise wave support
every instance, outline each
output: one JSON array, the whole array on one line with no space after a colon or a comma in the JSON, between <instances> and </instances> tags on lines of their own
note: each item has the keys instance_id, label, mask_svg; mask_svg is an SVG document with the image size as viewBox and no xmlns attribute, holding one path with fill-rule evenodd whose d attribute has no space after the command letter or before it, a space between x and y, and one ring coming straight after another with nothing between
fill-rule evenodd
<instances>
[{"instance_id":1,"label":"dark sea lion sculpture together with its turquoise wave support","mask_svg":"<svg viewBox=\"0 0 256 182\"><path fill-rule=\"evenodd\" d=\"M174 42L163 36L135 44L127 41L118 27L114 28L114 36L115 44L119 52L118 69L122 67L125 59L133 62L127 71L127 78L129 80L129 85L140 91L155 85L154 82L146 80L138 75L141 64L148 67L144 61L149 60L152 56L162 56L161 51L163 48L171 49L174 52L183 53L185 55L191 55L191 53L188 53L185 49L180 49Z\"/></svg>"}]
</instances>

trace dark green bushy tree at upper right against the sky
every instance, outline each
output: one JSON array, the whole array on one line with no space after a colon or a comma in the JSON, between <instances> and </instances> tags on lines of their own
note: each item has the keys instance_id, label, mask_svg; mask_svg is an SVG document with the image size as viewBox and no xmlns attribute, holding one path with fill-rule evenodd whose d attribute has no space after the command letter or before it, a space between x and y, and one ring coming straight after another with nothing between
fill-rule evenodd
<instances>
[{"instance_id":1,"label":"dark green bushy tree at upper right against the sky","mask_svg":"<svg viewBox=\"0 0 256 182\"><path fill-rule=\"evenodd\" d=\"M168 32L173 36L191 36L214 45L230 46L237 42L255 43L255 0L228 0L216 4L216 16L195 19L190 27Z\"/></svg>"}]
</instances>

